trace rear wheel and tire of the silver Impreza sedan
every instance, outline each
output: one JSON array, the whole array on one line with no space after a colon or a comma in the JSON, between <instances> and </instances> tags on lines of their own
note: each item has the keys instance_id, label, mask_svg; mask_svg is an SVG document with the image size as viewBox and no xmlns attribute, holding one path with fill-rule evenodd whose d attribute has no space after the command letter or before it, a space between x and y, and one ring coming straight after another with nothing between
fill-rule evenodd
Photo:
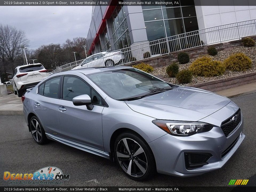
<instances>
[{"instance_id":1,"label":"rear wheel and tire of the silver Impreza sedan","mask_svg":"<svg viewBox=\"0 0 256 192\"><path fill-rule=\"evenodd\" d=\"M45 130L43 129L43 126L37 117L35 116L31 117L29 121L29 126L30 126L32 137L37 144L43 145L47 143L48 139L45 135Z\"/></svg>"}]
</instances>

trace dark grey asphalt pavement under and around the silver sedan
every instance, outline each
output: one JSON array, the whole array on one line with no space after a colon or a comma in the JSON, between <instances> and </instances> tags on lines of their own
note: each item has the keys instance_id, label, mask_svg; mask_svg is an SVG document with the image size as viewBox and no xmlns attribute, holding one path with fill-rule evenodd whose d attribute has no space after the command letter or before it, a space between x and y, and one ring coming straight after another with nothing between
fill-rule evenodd
<instances>
[{"instance_id":1,"label":"dark grey asphalt pavement under and around the silver sedan","mask_svg":"<svg viewBox=\"0 0 256 192\"><path fill-rule=\"evenodd\" d=\"M1 115L0 186L10 186L10 180L3 180L4 171L34 173L47 166L70 174L69 181L61 186L228 186L231 179L249 179L248 185L255 185L256 93L231 100L242 110L246 137L222 169L190 178L156 174L144 182L127 178L117 165L96 155L54 141L37 145L23 116Z\"/></svg>"}]
</instances>

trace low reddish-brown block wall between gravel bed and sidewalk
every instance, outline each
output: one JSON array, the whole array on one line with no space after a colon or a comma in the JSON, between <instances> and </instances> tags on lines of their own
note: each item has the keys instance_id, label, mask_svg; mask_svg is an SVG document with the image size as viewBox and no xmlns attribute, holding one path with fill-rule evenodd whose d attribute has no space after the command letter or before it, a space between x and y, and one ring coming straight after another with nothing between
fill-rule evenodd
<instances>
[{"instance_id":1,"label":"low reddish-brown block wall between gravel bed and sidewalk","mask_svg":"<svg viewBox=\"0 0 256 192\"><path fill-rule=\"evenodd\" d=\"M256 82L256 72L246 73L243 75L237 75L234 77L228 77L214 81L208 81L204 83L198 83L190 86L211 92L217 92L253 82Z\"/></svg>"}]
</instances>

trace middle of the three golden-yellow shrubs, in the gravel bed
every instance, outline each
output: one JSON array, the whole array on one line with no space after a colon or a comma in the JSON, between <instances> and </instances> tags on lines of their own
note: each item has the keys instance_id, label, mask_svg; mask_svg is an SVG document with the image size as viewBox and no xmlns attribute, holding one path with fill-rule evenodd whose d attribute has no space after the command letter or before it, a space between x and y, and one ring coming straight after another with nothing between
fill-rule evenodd
<instances>
[{"instance_id":1,"label":"middle of the three golden-yellow shrubs, in the gravel bed","mask_svg":"<svg viewBox=\"0 0 256 192\"><path fill-rule=\"evenodd\" d=\"M213 61L210 57L200 57L196 59L189 69L194 75L203 77L213 77L222 75L225 72L225 67L220 61Z\"/></svg>"}]
</instances>

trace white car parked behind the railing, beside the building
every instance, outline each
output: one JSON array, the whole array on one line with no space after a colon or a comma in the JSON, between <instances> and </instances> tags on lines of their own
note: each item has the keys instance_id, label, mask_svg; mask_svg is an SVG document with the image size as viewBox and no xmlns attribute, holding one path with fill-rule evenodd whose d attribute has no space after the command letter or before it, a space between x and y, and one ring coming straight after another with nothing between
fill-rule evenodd
<instances>
[{"instance_id":1,"label":"white car parked behind the railing, beside the building","mask_svg":"<svg viewBox=\"0 0 256 192\"><path fill-rule=\"evenodd\" d=\"M71 70L83 69L88 67L103 67L103 66L115 66L122 62L125 57L121 51L108 52L104 51L101 53L93 54L82 61L78 66Z\"/></svg>"}]
</instances>

